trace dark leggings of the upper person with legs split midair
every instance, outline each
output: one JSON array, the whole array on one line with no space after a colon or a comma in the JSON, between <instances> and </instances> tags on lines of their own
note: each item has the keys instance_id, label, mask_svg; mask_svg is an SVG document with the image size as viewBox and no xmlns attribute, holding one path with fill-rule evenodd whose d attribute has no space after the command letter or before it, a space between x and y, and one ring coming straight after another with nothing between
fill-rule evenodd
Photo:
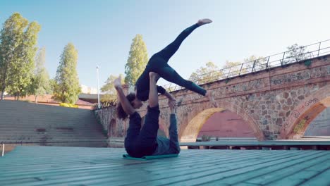
<instances>
[{"instance_id":1,"label":"dark leggings of the upper person with legs split midair","mask_svg":"<svg viewBox=\"0 0 330 186\"><path fill-rule=\"evenodd\" d=\"M183 40L188 37L188 35L190 35L190 33L193 32L193 30L195 30L197 27L199 27L199 25L195 24L186 28L183 30L183 32L181 32L180 35L178 35L178 37L176 37L173 42L171 42L171 44L166 46L158 53L154 54L147 64L147 68L149 68L147 71L158 73L161 77L169 82L173 82L176 85L180 85L181 87L185 87L186 89L190 89L193 92L197 92L198 94L205 96L205 89L196 85L194 82L183 79L183 77L181 77L181 75L179 75L176 70L171 68L171 66L168 64L169 59L171 56L173 56L173 54L176 53Z\"/></svg>"}]
</instances>

